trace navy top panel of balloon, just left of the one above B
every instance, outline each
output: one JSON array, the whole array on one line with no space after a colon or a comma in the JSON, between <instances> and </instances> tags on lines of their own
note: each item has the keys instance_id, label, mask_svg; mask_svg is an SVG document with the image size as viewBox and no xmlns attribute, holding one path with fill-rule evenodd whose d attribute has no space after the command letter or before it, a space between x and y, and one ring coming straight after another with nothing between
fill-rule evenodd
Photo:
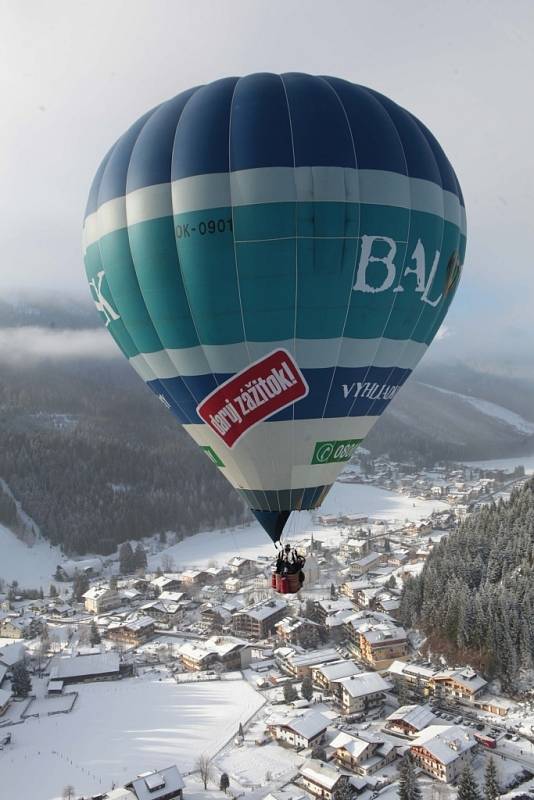
<instances>
[{"instance_id":1,"label":"navy top panel of balloon, just left of the one above B","mask_svg":"<svg viewBox=\"0 0 534 800\"><path fill-rule=\"evenodd\" d=\"M332 87L322 78L282 75L286 87L295 166L355 167L347 118Z\"/></svg>"}]
</instances>

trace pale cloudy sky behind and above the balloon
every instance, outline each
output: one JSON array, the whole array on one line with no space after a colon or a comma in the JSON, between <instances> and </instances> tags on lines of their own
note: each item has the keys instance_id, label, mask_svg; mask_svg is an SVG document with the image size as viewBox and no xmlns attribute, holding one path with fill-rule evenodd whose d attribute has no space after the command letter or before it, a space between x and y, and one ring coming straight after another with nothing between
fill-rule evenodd
<instances>
[{"instance_id":1,"label":"pale cloudy sky behind and above the balloon","mask_svg":"<svg viewBox=\"0 0 534 800\"><path fill-rule=\"evenodd\" d=\"M87 296L89 186L148 108L226 75L331 74L415 113L460 179L436 352L534 360L533 41L530 0L0 0L0 298Z\"/></svg>"}]
</instances>

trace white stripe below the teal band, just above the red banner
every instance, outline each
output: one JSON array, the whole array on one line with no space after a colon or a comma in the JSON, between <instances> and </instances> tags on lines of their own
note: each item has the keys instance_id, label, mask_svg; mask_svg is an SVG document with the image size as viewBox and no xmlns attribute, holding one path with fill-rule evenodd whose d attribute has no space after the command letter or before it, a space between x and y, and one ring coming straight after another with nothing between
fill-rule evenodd
<instances>
[{"instance_id":1,"label":"white stripe below the teal band, just above the red banner","mask_svg":"<svg viewBox=\"0 0 534 800\"><path fill-rule=\"evenodd\" d=\"M282 339L276 342L244 342L237 344L204 345L181 349L143 353L137 359L150 367L152 380L192 377L210 372L233 374L245 369L277 349L289 350L301 369L328 367L399 367L413 369L426 353L428 345L411 339ZM209 366L208 366L209 364ZM174 365L174 366L173 366ZM136 367L137 368L137 367ZM141 369L143 367L141 366ZM146 378L145 380L150 380Z\"/></svg>"}]
</instances>

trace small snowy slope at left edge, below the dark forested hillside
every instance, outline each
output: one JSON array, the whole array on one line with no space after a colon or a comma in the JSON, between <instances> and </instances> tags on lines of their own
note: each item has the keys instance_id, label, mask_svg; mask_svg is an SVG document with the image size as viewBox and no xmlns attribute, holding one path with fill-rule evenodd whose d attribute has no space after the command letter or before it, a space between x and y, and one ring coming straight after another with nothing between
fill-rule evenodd
<instances>
[{"instance_id":1,"label":"small snowy slope at left edge, below the dark forested hillside","mask_svg":"<svg viewBox=\"0 0 534 800\"><path fill-rule=\"evenodd\" d=\"M46 588L62 561L58 548L44 539L37 539L33 547L28 547L9 528L0 525L0 578L17 580L22 588Z\"/></svg>"}]
</instances>

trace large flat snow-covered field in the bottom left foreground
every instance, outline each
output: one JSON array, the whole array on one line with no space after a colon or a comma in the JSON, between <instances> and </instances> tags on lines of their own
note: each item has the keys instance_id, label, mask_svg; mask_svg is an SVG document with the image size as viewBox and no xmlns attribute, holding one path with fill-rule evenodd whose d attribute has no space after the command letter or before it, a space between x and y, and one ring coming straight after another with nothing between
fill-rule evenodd
<instances>
[{"instance_id":1,"label":"large flat snow-covered field in the bottom left foreground","mask_svg":"<svg viewBox=\"0 0 534 800\"><path fill-rule=\"evenodd\" d=\"M70 714L26 720L0 752L2 797L52 800L122 785L171 764L187 772L214 756L263 704L244 681L178 686L139 678L73 687Z\"/></svg>"}]
</instances>

